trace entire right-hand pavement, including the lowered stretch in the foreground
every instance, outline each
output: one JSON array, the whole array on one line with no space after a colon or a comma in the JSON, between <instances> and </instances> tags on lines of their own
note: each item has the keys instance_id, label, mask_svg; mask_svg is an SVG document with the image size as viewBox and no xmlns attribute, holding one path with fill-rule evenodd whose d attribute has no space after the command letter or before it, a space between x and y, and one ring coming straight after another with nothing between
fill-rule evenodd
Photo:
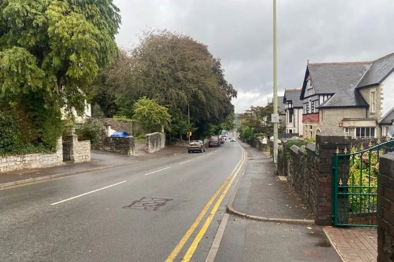
<instances>
[{"instance_id":1,"label":"entire right-hand pavement, including the lowered stretch in the foreground","mask_svg":"<svg viewBox=\"0 0 394 262\"><path fill-rule=\"evenodd\" d=\"M228 206L255 219L231 214L215 259L207 261L341 261L298 194L273 175L269 157L241 145L249 160Z\"/></svg>"}]
</instances>

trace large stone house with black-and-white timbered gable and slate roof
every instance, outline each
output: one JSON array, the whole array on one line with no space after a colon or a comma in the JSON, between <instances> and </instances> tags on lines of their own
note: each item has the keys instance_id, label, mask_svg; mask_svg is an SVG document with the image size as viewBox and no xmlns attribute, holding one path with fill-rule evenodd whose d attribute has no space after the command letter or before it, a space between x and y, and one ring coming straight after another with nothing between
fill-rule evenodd
<instances>
[{"instance_id":1,"label":"large stone house with black-and-white timbered gable and slate roof","mask_svg":"<svg viewBox=\"0 0 394 262\"><path fill-rule=\"evenodd\" d=\"M304 137L326 129L354 138L392 135L387 132L394 106L393 70L394 53L375 61L308 63L300 95Z\"/></svg>"}]
</instances>

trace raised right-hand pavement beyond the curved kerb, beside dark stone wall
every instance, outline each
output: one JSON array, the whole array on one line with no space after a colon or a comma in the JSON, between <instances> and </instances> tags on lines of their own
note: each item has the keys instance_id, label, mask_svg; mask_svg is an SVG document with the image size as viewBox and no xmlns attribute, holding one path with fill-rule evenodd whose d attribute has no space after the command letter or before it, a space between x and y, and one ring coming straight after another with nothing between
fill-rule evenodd
<instances>
[{"instance_id":1,"label":"raised right-hand pavement beyond the curved kerb, beside dark stone wall","mask_svg":"<svg viewBox=\"0 0 394 262\"><path fill-rule=\"evenodd\" d=\"M248 165L232 203L233 209L256 217L308 220L310 223L312 212L289 183L273 174L271 159L246 143L241 145L248 153Z\"/></svg>"}]
</instances>

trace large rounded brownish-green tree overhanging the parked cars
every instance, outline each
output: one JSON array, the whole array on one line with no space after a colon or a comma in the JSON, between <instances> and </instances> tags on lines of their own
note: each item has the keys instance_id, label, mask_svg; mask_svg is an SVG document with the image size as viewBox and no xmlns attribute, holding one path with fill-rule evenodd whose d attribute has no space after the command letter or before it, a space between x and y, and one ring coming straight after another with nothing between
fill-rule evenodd
<instances>
[{"instance_id":1,"label":"large rounded brownish-green tree overhanging the parked cars","mask_svg":"<svg viewBox=\"0 0 394 262\"><path fill-rule=\"evenodd\" d=\"M207 135L209 124L219 125L233 113L231 100L237 94L225 80L220 60L206 45L166 30L145 32L139 45L122 52L114 68L100 77L104 81L96 83L96 93L114 91L121 114L129 115L135 101L143 96L166 105L173 116L175 137L193 127L197 128L196 136ZM99 101L99 97L93 100ZM193 127L186 122L188 107Z\"/></svg>"}]
</instances>

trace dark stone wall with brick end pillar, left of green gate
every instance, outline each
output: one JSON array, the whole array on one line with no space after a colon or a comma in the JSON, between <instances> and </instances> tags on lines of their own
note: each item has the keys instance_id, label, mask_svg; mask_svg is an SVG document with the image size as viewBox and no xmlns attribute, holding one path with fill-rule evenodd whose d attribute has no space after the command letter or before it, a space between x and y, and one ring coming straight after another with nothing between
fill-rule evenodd
<instances>
[{"instance_id":1,"label":"dark stone wall with brick end pillar, left of green gate","mask_svg":"<svg viewBox=\"0 0 394 262\"><path fill-rule=\"evenodd\" d=\"M316 135L316 144L293 145L290 154L278 154L288 157L287 165L279 164L283 159L278 165L287 169L288 180L308 203L318 225L331 225L331 157L345 147L351 147L351 136L326 130Z\"/></svg>"}]
</instances>

